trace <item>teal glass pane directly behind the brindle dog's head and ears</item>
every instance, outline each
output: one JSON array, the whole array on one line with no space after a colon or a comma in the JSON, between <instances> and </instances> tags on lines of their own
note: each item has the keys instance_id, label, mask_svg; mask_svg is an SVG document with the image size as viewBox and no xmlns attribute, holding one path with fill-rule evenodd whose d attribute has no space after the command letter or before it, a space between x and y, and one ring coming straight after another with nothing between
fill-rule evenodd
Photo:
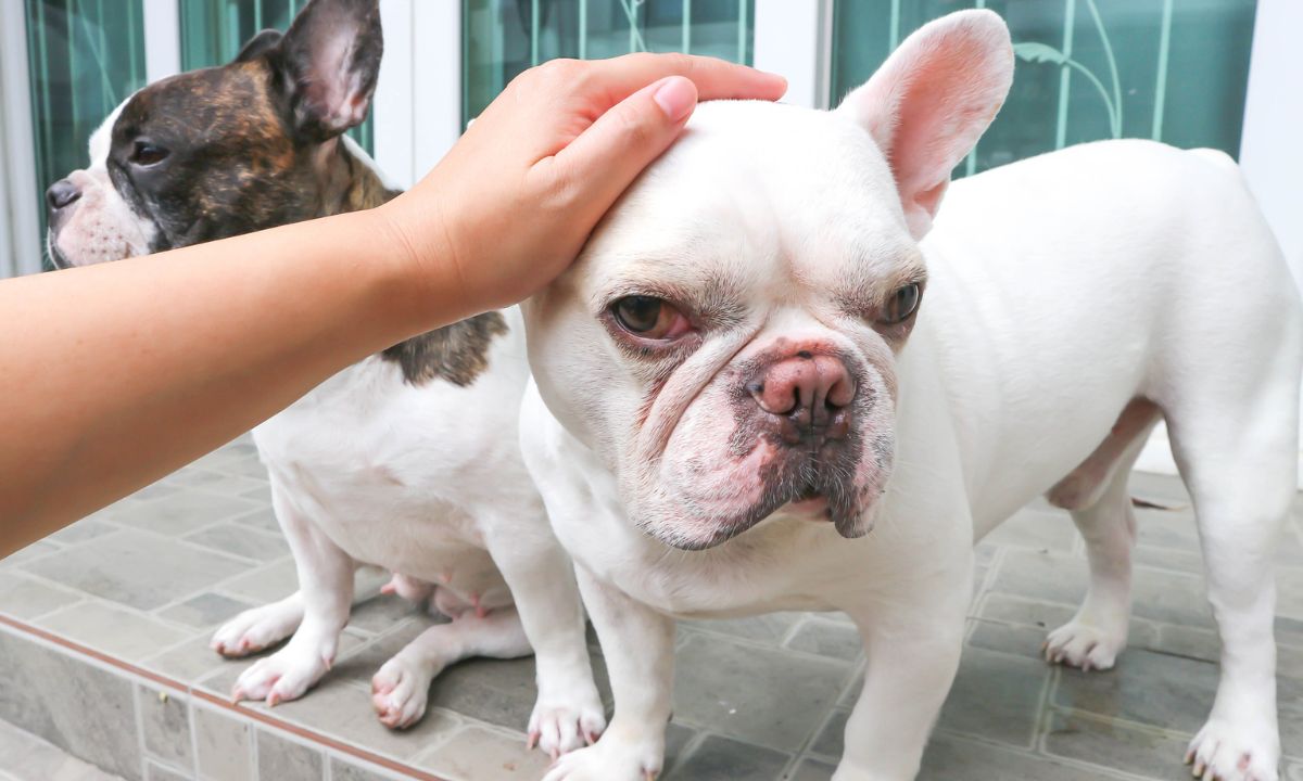
<instances>
[{"instance_id":1,"label":"teal glass pane directly behind the brindle dog's head and ears","mask_svg":"<svg viewBox=\"0 0 1303 781\"><path fill-rule=\"evenodd\" d=\"M179 0L181 4L181 68L210 68L236 59L261 30L285 31L306 0ZM374 154L374 112L348 131Z\"/></svg>"}]
</instances>

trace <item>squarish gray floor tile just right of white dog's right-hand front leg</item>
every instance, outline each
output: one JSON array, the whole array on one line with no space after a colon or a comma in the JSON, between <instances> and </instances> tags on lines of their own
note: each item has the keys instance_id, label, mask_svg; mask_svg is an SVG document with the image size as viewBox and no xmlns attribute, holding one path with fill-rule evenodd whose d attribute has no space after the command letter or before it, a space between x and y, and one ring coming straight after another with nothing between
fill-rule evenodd
<instances>
[{"instance_id":1,"label":"squarish gray floor tile just right of white dog's right-hand front leg","mask_svg":"<svg viewBox=\"0 0 1303 781\"><path fill-rule=\"evenodd\" d=\"M938 726L1011 746L1031 746L1049 677L1044 661L966 648Z\"/></svg>"}]
</instances>

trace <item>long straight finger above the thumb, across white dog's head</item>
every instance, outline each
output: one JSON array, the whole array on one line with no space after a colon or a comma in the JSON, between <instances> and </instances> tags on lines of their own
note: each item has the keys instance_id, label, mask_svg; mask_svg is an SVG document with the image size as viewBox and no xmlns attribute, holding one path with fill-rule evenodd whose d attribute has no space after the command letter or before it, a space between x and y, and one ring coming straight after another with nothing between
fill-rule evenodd
<instances>
[{"instance_id":1,"label":"long straight finger above the thumb, across white dog's head","mask_svg":"<svg viewBox=\"0 0 1303 781\"><path fill-rule=\"evenodd\" d=\"M678 53L636 53L592 62L607 90L610 105L644 86L670 75L681 75L697 86L698 100L734 98L778 100L787 92L787 79L715 57Z\"/></svg>"}]
</instances>

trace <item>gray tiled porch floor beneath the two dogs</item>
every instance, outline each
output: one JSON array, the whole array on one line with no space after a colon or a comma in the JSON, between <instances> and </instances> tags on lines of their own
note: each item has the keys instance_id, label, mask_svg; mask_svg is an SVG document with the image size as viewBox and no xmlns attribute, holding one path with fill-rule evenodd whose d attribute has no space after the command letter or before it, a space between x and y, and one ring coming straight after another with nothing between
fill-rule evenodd
<instances>
[{"instance_id":1,"label":"gray tiled porch floor beneath the two dogs","mask_svg":"<svg viewBox=\"0 0 1303 781\"><path fill-rule=\"evenodd\" d=\"M1065 513L1031 506L979 547L968 648L923 778L1188 777L1179 760L1212 702L1217 640L1179 482L1138 474L1134 492L1173 509L1138 510L1132 647L1113 672L1081 674L1037 657L1045 631L1085 587ZM1300 518L1280 548L1291 781L1303 781ZM405 733L375 721L370 676L433 620L378 596L380 575L360 578L364 600L317 690L274 711L224 704L249 663L211 652L214 627L294 588L262 467L249 440L237 440L0 562L9 618L0 625L0 719L125 778L399 777L353 767L358 752L453 781L537 778L546 758L525 751L520 733L533 700L530 660L447 670L430 712ZM96 659L66 656L69 643ZM685 622L666 777L827 778L863 665L853 629L835 614ZM51 695L61 686L70 694ZM95 728L81 730L87 719Z\"/></svg>"}]
</instances>

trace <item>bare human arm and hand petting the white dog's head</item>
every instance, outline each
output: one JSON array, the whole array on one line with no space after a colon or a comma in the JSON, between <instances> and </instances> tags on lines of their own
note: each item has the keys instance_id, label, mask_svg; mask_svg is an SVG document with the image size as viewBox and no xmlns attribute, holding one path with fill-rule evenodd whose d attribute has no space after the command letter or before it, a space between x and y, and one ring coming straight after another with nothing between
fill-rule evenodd
<instances>
[{"instance_id":1,"label":"bare human arm and hand petting the white dog's head","mask_svg":"<svg viewBox=\"0 0 1303 781\"><path fill-rule=\"evenodd\" d=\"M573 259L698 94L783 86L700 57L543 66L378 210L0 282L0 555L367 354L520 301Z\"/></svg>"}]
</instances>

